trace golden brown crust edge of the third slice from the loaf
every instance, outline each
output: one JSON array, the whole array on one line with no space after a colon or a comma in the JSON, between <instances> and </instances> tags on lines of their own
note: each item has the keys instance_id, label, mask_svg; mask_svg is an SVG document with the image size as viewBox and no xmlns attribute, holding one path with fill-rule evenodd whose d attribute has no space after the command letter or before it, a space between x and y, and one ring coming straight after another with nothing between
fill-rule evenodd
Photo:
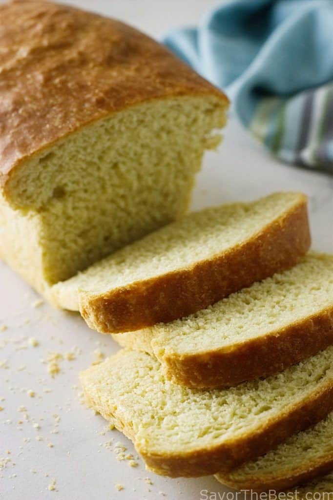
<instances>
[{"instance_id":1,"label":"golden brown crust edge of the third slice from the loaf","mask_svg":"<svg viewBox=\"0 0 333 500\"><path fill-rule=\"evenodd\" d=\"M333 410L333 382L319 389L313 397L289 409L279 418L270 419L265 426L252 434L230 439L222 445L193 450L182 454L158 455L149 453L135 442L148 468L157 474L170 477L196 477L217 472L227 472L265 454L292 434L305 430L323 420ZM103 413L102 413L103 414ZM109 416L103 415L109 419Z\"/></svg>"}]
</instances>

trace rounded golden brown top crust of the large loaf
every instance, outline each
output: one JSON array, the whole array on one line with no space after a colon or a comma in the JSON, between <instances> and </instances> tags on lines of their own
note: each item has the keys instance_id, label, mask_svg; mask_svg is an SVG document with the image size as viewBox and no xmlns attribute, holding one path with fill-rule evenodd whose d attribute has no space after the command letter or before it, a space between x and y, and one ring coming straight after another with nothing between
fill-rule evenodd
<instances>
[{"instance_id":1,"label":"rounded golden brown top crust of the large loaf","mask_svg":"<svg viewBox=\"0 0 333 500\"><path fill-rule=\"evenodd\" d=\"M151 99L225 95L114 19L41 0L0 5L0 185L67 134Z\"/></svg>"}]
</instances>

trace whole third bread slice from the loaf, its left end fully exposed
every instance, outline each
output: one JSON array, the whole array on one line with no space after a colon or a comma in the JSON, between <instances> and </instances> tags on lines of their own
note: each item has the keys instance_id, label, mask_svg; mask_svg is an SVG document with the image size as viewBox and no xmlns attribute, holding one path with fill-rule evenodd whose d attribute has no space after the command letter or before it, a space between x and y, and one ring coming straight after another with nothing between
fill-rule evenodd
<instances>
[{"instance_id":1,"label":"whole third bread slice from the loaf, its left end fully exposed","mask_svg":"<svg viewBox=\"0 0 333 500\"><path fill-rule=\"evenodd\" d=\"M80 374L86 401L158 474L199 476L260 456L333 410L333 347L229 389L168 381L144 352L120 350Z\"/></svg>"}]
</instances>

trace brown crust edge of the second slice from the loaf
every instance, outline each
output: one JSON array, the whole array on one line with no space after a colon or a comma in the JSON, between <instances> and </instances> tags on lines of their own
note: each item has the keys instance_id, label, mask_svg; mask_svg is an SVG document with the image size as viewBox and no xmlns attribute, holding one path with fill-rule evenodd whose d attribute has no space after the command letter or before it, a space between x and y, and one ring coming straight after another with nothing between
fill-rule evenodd
<instances>
[{"instance_id":1,"label":"brown crust edge of the second slice from the loaf","mask_svg":"<svg viewBox=\"0 0 333 500\"><path fill-rule=\"evenodd\" d=\"M281 330L234 345L184 356L164 355L166 375L188 387L237 385L267 377L333 344L333 304Z\"/></svg>"}]
</instances>

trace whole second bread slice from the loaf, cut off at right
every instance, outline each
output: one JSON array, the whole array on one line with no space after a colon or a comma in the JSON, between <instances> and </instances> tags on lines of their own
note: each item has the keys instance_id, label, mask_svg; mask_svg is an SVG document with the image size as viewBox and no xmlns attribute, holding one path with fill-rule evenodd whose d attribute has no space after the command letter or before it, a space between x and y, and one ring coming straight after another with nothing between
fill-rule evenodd
<instances>
[{"instance_id":1,"label":"whole second bread slice from the loaf, cut off at right","mask_svg":"<svg viewBox=\"0 0 333 500\"><path fill-rule=\"evenodd\" d=\"M189 387L267 376L333 344L333 255L296 266L168 324L114 335Z\"/></svg>"}]
</instances>

